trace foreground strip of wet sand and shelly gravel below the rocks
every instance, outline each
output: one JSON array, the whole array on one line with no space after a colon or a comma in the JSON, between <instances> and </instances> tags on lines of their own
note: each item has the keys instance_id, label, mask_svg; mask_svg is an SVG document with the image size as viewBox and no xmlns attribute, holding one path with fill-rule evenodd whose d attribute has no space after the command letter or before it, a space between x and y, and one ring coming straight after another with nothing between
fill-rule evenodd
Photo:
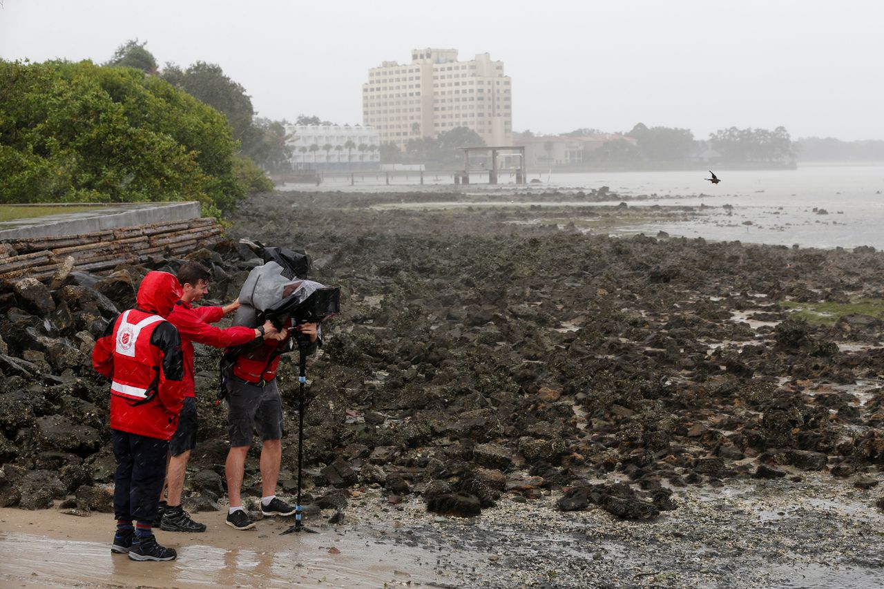
<instances>
[{"instance_id":1,"label":"foreground strip of wet sand and shelly gravel below the rocks","mask_svg":"<svg viewBox=\"0 0 884 589\"><path fill-rule=\"evenodd\" d=\"M679 509L645 522L602 509L561 512L558 492L507 498L471 518L436 516L414 499L391 509L370 492L347 524L317 519L309 524L320 533L286 536L278 534L291 518L238 532L223 511L201 513L205 533L158 532L179 550L175 562L111 555L110 514L0 509L0 587L884 586L876 490L786 470L796 480L675 489Z\"/></svg>"}]
</instances>

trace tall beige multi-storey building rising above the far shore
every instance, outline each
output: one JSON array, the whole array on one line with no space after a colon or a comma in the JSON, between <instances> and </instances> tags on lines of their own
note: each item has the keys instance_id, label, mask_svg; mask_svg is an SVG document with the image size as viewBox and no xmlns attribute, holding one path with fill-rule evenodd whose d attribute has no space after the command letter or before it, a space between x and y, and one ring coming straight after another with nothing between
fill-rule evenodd
<instances>
[{"instance_id":1,"label":"tall beige multi-storey building rising above the far shore","mask_svg":"<svg viewBox=\"0 0 884 589\"><path fill-rule=\"evenodd\" d=\"M369 70L362 120L381 142L400 148L457 126L476 131L486 145L512 145L512 97L503 62L487 53L458 61L457 50L413 50L408 65L385 61Z\"/></svg>"}]
</instances>

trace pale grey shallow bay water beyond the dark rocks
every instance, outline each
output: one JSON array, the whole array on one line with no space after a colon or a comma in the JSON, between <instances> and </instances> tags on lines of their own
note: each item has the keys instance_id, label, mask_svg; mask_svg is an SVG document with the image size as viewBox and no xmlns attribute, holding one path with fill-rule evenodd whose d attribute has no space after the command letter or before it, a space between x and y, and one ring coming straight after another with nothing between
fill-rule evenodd
<instances>
[{"instance_id":1,"label":"pale grey shallow bay water beyond the dark rocks","mask_svg":"<svg viewBox=\"0 0 884 589\"><path fill-rule=\"evenodd\" d=\"M665 231L673 236L704 237L716 241L746 241L777 245L798 244L812 248L855 248L861 245L884 249L884 165L819 165L802 166L797 170L721 171L718 185L703 180L703 171L692 172L594 172L540 174L541 183L517 186L502 183L490 187L481 183L454 187L445 176L438 183L415 185L395 178L392 184L366 181L350 187L348 183L329 180L321 187L290 184L287 190L345 190L354 192L463 192L495 202L406 203L385 205L387 208L418 209L494 206L558 206L581 210L605 206L629 199L629 206L691 206L705 208L686 220L659 218L641 225L619 229L617 233L656 234ZM531 174L531 179L537 179ZM507 179L503 179L504 181ZM548 180L548 181L547 181ZM425 180L426 181L426 180ZM476 181L481 179L476 176ZM575 193L579 190L610 187L615 194L607 203L586 203L557 198L550 201L542 193L550 190ZM510 195L537 195L531 202L511 202ZM634 200L641 197L642 200ZM723 205L730 205L726 208ZM817 210L814 210L816 208ZM818 210L827 210L819 214ZM578 213L579 215L579 213ZM579 219L573 219L575 223ZM587 219L590 224L591 219ZM751 223L751 225L747 224ZM579 224L578 224L579 225Z\"/></svg>"}]
</instances>

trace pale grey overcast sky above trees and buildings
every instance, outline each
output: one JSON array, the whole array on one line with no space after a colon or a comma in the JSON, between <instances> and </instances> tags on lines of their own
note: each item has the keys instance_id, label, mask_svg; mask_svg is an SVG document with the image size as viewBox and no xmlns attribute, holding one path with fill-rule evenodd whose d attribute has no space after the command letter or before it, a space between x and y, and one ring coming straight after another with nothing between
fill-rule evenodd
<instances>
[{"instance_id":1,"label":"pale grey overcast sky above trees and buildings","mask_svg":"<svg viewBox=\"0 0 884 589\"><path fill-rule=\"evenodd\" d=\"M362 123L369 68L433 47L504 62L516 131L643 122L698 139L729 126L884 139L880 0L0 4L4 59L101 63L138 38L160 65L220 65L271 119Z\"/></svg>"}]
</instances>

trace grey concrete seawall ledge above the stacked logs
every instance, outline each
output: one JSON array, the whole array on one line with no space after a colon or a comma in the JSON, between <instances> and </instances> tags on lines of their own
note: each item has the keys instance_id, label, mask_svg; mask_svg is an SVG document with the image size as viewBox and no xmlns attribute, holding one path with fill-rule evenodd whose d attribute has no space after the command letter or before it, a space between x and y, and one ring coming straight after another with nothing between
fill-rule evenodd
<instances>
[{"instance_id":1,"label":"grey concrete seawall ledge above the stacked logs","mask_svg":"<svg viewBox=\"0 0 884 589\"><path fill-rule=\"evenodd\" d=\"M86 204L86 203L82 203ZM0 223L0 241L79 235L118 227L200 218L200 203L108 204L100 209Z\"/></svg>"}]
</instances>

